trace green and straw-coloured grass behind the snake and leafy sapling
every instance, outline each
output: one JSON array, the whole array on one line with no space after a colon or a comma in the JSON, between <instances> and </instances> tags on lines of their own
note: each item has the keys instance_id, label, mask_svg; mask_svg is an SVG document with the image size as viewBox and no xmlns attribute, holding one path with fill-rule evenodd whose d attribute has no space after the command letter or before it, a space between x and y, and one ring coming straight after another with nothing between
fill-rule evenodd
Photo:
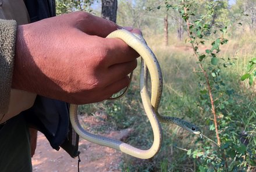
<instances>
[{"instance_id":1,"label":"green and straw-coloured grass behind the snake and leafy sapling","mask_svg":"<svg viewBox=\"0 0 256 172\"><path fill-rule=\"evenodd\" d=\"M256 89L255 84L250 87L248 83L241 82L240 77L244 74L246 64L250 58L256 56L256 47L252 41L255 39L246 39L241 36L242 38L243 40L240 42L232 39L230 43L223 47L221 52L221 57L237 58L237 60L234 60L233 65L222 71L222 77L226 85L221 89L227 90L227 93L232 90L232 95L226 96L227 93L223 92L223 96L220 98L223 103L219 103L219 107L216 107L216 109L218 110L220 127L227 127L221 128L222 133L220 135L223 141L230 139L233 141L230 147L236 145L238 147L240 145L239 134L246 130L250 140L247 148L254 151L252 152L253 156L256 153ZM200 126L205 136L216 141L215 132L212 130L213 116L211 109L207 108L207 105L205 105L207 103L202 103L200 98L200 96L202 97L200 90L204 86L200 85L198 77L200 73L197 72L198 67L191 49L180 42L175 44L177 47L173 45L164 47L161 43L155 42L155 38L148 38L147 40L148 45L152 47L153 52L158 57L163 74L163 94L159 113L189 120ZM138 75L139 69L137 68L134 72L131 88L121 100L104 101L103 103L83 106L80 107L80 111L87 112L87 114L91 114L98 109L105 111L109 115L108 125L112 126L113 129L120 130L133 127L134 133L127 141L129 144L148 149L152 144L153 136L140 100ZM219 97L215 98L218 99ZM175 125L163 124L162 127L163 144L157 156L150 160L140 160L123 155L123 161L120 165L122 171L205 171L202 163L207 157L205 156L202 159L199 152L194 153L193 158L193 154L189 151L193 152L200 149L207 151L208 147L215 147L213 142L207 140L207 138L204 142L201 142L198 136ZM225 133L225 130L229 133ZM205 144L207 141L209 142L208 147ZM213 153L209 153L209 155L214 156ZM197 157L197 155L200 156ZM238 166L232 158L227 158L227 161L230 166ZM248 159L240 162L241 166L237 168L240 168L241 171L246 169L246 167L242 168L243 166L253 166L253 163L250 163ZM209 167L211 166L213 165L209 163Z\"/></svg>"}]
</instances>

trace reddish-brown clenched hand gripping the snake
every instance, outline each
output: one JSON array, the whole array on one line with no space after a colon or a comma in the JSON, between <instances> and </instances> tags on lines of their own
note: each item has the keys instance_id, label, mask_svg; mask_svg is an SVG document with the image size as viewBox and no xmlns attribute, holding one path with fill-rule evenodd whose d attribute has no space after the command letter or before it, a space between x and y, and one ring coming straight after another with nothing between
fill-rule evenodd
<instances>
[{"instance_id":1,"label":"reddish-brown clenched hand gripping the snake","mask_svg":"<svg viewBox=\"0 0 256 172\"><path fill-rule=\"evenodd\" d=\"M73 104L111 97L137 66L137 52L105 38L119 28L85 12L19 25L12 87Z\"/></svg>"}]
</instances>

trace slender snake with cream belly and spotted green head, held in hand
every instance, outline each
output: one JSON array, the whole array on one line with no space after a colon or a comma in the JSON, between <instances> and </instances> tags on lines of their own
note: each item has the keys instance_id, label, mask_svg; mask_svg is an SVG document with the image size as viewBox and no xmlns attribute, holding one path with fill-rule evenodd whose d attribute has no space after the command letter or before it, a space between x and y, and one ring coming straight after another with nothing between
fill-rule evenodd
<instances>
[{"instance_id":1,"label":"slender snake with cream belly and spotted green head, held in hand","mask_svg":"<svg viewBox=\"0 0 256 172\"><path fill-rule=\"evenodd\" d=\"M95 144L99 144L105 147L116 149L118 151L140 159L150 159L159 152L163 141L162 127L160 122L178 125L183 129L190 131L191 133L200 134L201 136L200 128L193 125L192 123L180 118L172 116L162 116L158 114L158 107L161 100L163 87L162 72L157 57L152 52L150 47L147 46L144 38L138 34L133 34L124 29L113 31L111 32L111 34L106 36L106 38L122 39L122 41L124 41L127 45L133 48L141 56L140 95L145 114L147 115L150 125L152 127L154 140L151 147L144 150L133 147L132 145L126 144L125 142L119 140L115 140L113 138L90 133L86 131L79 122L79 118L77 115L78 106L76 104L70 104L70 122L76 133L85 140L94 142ZM148 74L150 74L151 77L151 93L148 91ZM124 93L126 93L126 90ZM115 100L116 98L113 99Z\"/></svg>"}]
</instances>

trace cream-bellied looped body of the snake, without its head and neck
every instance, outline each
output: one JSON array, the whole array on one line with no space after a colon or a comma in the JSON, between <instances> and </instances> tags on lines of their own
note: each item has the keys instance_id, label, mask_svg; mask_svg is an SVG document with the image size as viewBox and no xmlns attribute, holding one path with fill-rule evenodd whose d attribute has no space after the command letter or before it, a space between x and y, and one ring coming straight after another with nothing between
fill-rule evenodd
<instances>
[{"instance_id":1,"label":"cream-bellied looped body of the snake, without its head and neck","mask_svg":"<svg viewBox=\"0 0 256 172\"><path fill-rule=\"evenodd\" d=\"M114 140L112 138L89 133L88 131L84 130L83 127L80 125L77 116L77 105L74 104L70 104L70 122L72 123L73 129L76 131L76 133L79 134L81 138L84 138L90 142L117 149L136 158L152 158L159 151L162 145L162 128L155 111L157 109L154 108L158 107L158 98L161 98L162 93L162 74L157 58L155 57L154 53L152 53L152 51L147 46L141 36L131 34L131 32L129 31L116 30L109 34L107 38L122 39L127 45L136 50L136 52L140 54L141 58L144 60L144 63L147 64L147 68L151 76L151 99L143 79L140 79L140 94L145 113L150 120L150 124L154 134L154 141L151 145L151 148L147 150L138 149L119 140ZM153 99L156 100L154 101L155 104L151 104L152 97L154 97Z\"/></svg>"}]
</instances>

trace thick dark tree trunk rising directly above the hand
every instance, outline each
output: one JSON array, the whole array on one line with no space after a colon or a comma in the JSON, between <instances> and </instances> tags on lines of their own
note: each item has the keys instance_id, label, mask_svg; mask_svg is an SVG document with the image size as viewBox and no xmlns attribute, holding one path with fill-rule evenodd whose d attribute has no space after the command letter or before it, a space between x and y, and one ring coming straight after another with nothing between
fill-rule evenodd
<instances>
[{"instance_id":1,"label":"thick dark tree trunk rising directly above the hand","mask_svg":"<svg viewBox=\"0 0 256 172\"><path fill-rule=\"evenodd\" d=\"M101 17L116 23L117 0L102 0Z\"/></svg>"}]
</instances>

